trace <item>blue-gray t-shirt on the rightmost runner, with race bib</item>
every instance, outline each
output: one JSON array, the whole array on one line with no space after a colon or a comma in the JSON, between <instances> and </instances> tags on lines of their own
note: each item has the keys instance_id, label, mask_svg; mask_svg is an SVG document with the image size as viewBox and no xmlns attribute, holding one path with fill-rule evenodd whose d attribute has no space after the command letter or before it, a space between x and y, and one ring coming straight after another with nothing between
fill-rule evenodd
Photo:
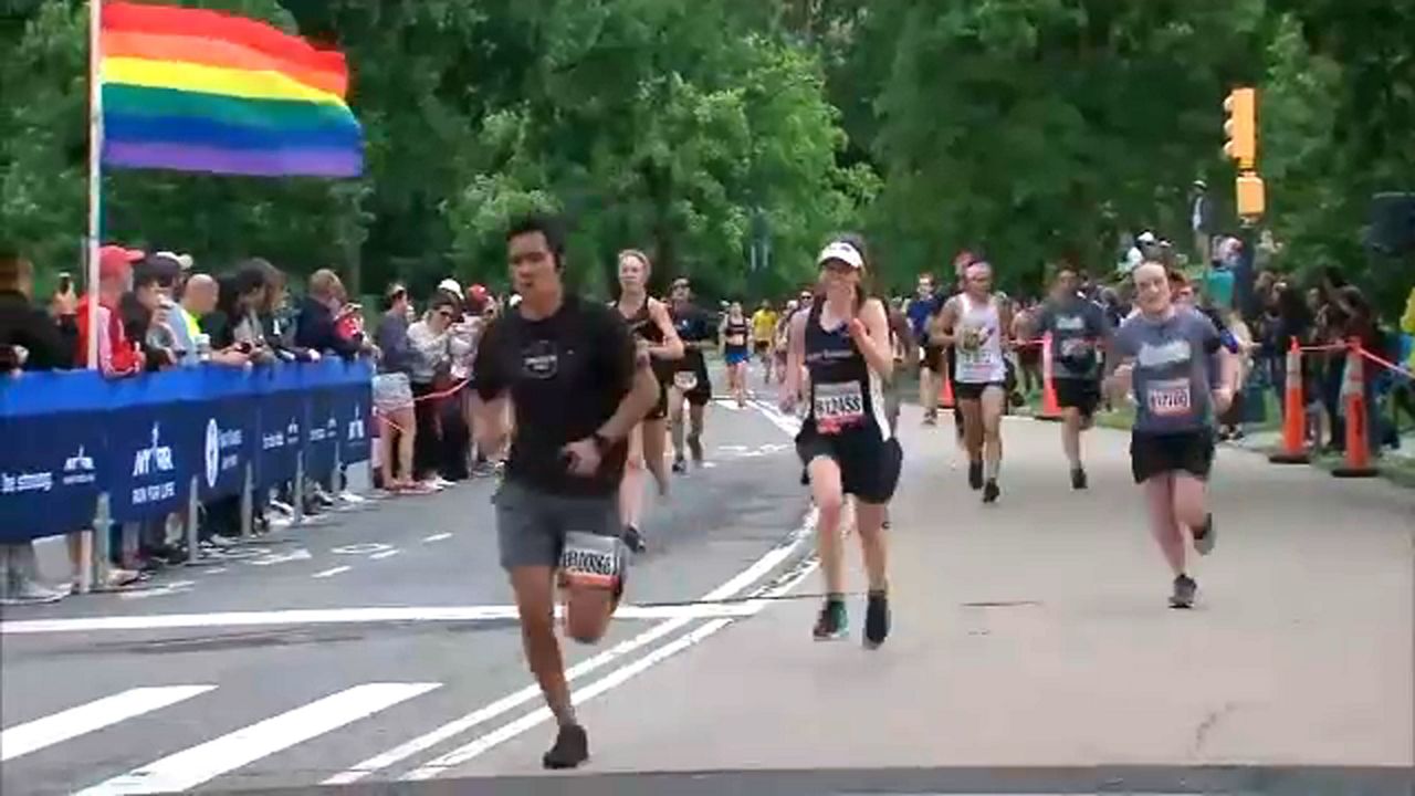
<instances>
[{"instance_id":1,"label":"blue-gray t-shirt on the rightmost runner, with race bib","mask_svg":"<svg viewBox=\"0 0 1415 796\"><path fill-rule=\"evenodd\" d=\"M1135 432L1176 433L1213 423L1208 357L1223 343L1214 323L1180 307L1166 320L1136 314L1115 333L1115 350L1135 364Z\"/></svg>"}]
</instances>

